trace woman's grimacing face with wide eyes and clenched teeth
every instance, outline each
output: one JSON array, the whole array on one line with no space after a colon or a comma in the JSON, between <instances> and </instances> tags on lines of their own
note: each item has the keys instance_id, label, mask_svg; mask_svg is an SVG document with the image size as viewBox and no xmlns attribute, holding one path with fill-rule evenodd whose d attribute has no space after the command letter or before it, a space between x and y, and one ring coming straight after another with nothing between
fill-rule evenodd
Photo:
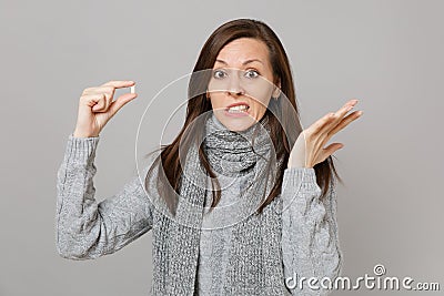
<instances>
[{"instance_id":1,"label":"woman's grimacing face with wide eyes and clenched teeth","mask_svg":"<svg viewBox=\"0 0 444 296\"><path fill-rule=\"evenodd\" d=\"M271 96L279 96L280 82L273 81L263 41L240 38L228 43L218 54L209 83L216 119L231 131L249 129L265 114Z\"/></svg>"}]
</instances>

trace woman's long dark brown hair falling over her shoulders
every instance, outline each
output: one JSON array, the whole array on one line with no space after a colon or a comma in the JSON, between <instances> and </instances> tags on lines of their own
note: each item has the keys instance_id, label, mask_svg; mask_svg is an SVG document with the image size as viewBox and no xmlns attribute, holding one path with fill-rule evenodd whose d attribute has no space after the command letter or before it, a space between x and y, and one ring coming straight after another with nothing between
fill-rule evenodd
<instances>
[{"instance_id":1,"label":"woman's long dark brown hair falling over her shoulders","mask_svg":"<svg viewBox=\"0 0 444 296\"><path fill-rule=\"evenodd\" d=\"M270 62L273 69L273 83L276 84L278 81L280 81L281 92L286 96L286 99L283 99L281 94L278 100L270 100L268 110L264 114L264 116L269 116L269 123L271 127L270 136L275 149L276 160L283 157L283 165L281 165L276 174L274 186L269 196L256 211L256 214L260 214L262 213L263 208L274 200L275 196L281 194L283 173L286 169L291 149L294 145L299 134L302 132L302 126L300 125L299 121L296 95L287 55L278 35L268 24L260 20L235 19L220 25L204 43L194 65L193 73L212 69L221 49L231 41L240 38L253 38L263 41L266 44L269 49ZM192 141L202 143L202 131L190 131L190 129L196 129L193 126L202 127L204 124L191 123L194 120L202 120L203 123L203 120L205 120L208 116L200 115L204 113L211 113L209 112L212 110L211 102L205 98L205 90L209 80L210 75L208 75L208 78L204 80L198 80L191 76L189 83L189 100L186 105L185 122L173 142L168 145L162 145L159 149L161 153L154 160L153 165L151 165L145 177L145 187L148 188L148 182L150 182L149 180L152 170L154 165L159 165L159 162L161 161L163 170L159 170L157 186L158 190L162 192L162 197L165 200L167 205L173 214L175 214L175 207L178 203L175 196L179 194L181 176L183 172L179 157L179 146L180 144L189 145ZM192 95L191 93L199 94ZM287 112L286 108L292 108L294 112ZM281 121L278 120L276 115L281 119ZM188 135L190 134L192 134L194 139L188 139ZM152 153L154 152L155 151ZM152 153L149 153L148 155ZM221 191L219 182L216 181L215 174L209 164L202 145L199 146L199 159L208 174L215 180L215 182L212 184L214 198L211 204L211 208L213 208L221 198ZM321 198L324 198L329 193L330 182L333 177L332 173L334 173L337 180L342 183L342 180L334 167L332 156L329 156L325 161L314 165L314 170L316 173L316 183L322 188Z\"/></svg>"}]
</instances>

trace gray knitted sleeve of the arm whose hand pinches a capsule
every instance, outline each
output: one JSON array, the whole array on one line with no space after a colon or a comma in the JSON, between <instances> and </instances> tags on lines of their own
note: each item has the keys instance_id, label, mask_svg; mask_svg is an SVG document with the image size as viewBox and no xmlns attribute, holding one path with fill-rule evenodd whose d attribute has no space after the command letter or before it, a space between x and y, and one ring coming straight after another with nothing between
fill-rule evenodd
<instances>
[{"instance_id":1,"label":"gray knitted sleeve of the arm whose hand pinches a capsule","mask_svg":"<svg viewBox=\"0 0 444 296\"><path fill-rule=\"evenodd\" d=\"M99 136L69 135L57 173L57 249L65 258L89 259L111 254L152 227L151 202L139 176L133 176L115 195L95 201L98 142Z\"/></svg>"}]
</instances>

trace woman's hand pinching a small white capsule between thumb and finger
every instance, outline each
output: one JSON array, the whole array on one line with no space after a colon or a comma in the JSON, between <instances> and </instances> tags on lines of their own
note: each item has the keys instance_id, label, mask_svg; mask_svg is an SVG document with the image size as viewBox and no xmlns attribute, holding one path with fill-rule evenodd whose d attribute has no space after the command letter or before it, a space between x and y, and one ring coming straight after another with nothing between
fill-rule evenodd
<instances>
[{"instance_id":1,"label":"woman's hand pinching a small white capsule between thumb and finger","mask_svg":"<svg viewBox=\"0 0 444 296\"><path fill-rule=\"evenodd\" d=\"M100 86L84 89L79 100L79 113L73 136L98 136L107 122L137 93L124 93L113 101L115 89L130 88L134 81L109 81Z\"/></svg>"}]
</instances>

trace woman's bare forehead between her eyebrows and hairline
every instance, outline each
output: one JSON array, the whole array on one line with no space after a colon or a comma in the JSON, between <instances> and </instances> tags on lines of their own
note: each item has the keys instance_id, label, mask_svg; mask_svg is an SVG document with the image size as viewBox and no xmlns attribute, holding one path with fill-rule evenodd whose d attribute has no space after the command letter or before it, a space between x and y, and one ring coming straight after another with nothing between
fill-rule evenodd
<instances>
[{"instance_id":1,"label":"woman's bare forehead between her eyebrows and hairline","mask_svg":"<svg viewBox=\"0 0 444 296\"><path fill-rule=\"evenodd\" d=\"M268 62L269 49L261 40L240 38L223 47L216 59L223 60L229 64L242 63L250 59L260 59L263 62Z\"/></svg>"}]
</instances>

